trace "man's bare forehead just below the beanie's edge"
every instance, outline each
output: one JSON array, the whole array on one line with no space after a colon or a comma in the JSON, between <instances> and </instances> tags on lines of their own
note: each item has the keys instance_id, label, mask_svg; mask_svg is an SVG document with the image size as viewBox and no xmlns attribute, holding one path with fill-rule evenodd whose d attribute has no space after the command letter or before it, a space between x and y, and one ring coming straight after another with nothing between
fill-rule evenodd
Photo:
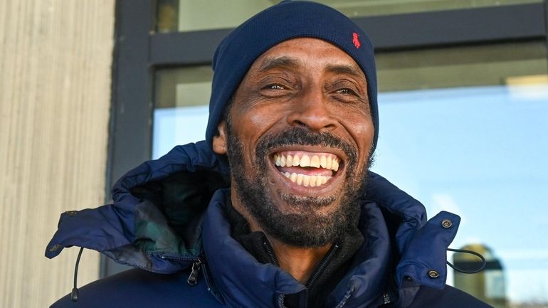
<instances>
[{"instance_id":1,"label":"man's bare forehead just below the beanie's edge","mask_svg":"<svg viewBox=\"0 0 548 308\"><path fill-rule=\"evenodd\" d=\"M346 68L342 73L352 73L365 78L354 59L332 43L318 38L293 38L265 51L255 60L249 72L269 68Z\"/></svg>"}]
</instances>

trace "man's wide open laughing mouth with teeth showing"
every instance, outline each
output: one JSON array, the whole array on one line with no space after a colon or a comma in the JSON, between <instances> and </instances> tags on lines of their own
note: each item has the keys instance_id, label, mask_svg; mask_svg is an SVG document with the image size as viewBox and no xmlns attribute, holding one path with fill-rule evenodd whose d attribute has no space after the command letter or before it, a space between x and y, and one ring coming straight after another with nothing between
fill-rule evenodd
<instances>
[{"instance_id":1,"label":"man's wide open laughing mouth with teeth showing","mask_svg":"<svg viewBox=\"0 0 548 308\"><path fill-rule=\"evenodd\" d=\"M293 183L305 187L326 184L339 170L340 161L331 153L285 151L273 155L278 171Z\"/></svg>"}]
</instances>

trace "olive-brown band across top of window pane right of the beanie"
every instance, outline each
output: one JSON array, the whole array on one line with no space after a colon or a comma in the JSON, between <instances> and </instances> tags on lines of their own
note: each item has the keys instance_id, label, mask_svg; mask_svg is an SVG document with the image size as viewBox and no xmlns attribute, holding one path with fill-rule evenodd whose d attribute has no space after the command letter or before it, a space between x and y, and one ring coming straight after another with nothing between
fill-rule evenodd
<instances>
[{"instance_id":1,"label":"olive-brown band across top of window pane right of the beanie","mask_svg":"<svg viewBox=\"0 0 548 308\"><path fill-rule=\"evenodd\" d=\"M507 78L547 72L545 41L489 44L376 55L379 90L504 85Z\"/></svg>"}]
</instances>

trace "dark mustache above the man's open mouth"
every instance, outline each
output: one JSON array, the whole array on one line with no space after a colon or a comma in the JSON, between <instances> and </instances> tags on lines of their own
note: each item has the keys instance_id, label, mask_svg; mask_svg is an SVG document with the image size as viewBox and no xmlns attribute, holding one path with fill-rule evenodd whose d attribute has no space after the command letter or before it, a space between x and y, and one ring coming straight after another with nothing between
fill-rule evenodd
<instances>
[{"instance_id":1,"label":"dark mustache above the man's open mouth","mask_svg":"<svg viewBox=\"0 0 548 308\"><path fill-rule=\"evenodd\" d=\"M353 165L357 161L357 149L346 140L335 137L330 132L311 132L304 127L291 127L283 132L265 135L257 144L255 158L262 160L270 152L270 149L291 145L341 149L346 154L349 165Z\"/></svg>"}]
</instances>

